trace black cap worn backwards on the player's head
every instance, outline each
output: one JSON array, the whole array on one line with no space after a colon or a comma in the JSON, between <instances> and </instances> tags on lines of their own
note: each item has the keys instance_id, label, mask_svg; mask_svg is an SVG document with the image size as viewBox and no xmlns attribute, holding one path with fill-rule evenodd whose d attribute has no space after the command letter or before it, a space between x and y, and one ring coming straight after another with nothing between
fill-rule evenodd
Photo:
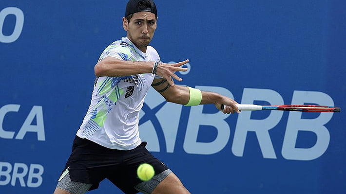
<instances>
[{"instance_id":1,"label":"black cap worn backwards on the player's head","mask_svg":"<svg viewBox=\"0 0 346 194\"><path fill-rule=\"evenodd\" d=\"M149 6L145 6L145 4ZM153 0L129 0L126 5L125 17L137 12L152 12L157 16L156 5Z\"/></svg>"}]
</instances>

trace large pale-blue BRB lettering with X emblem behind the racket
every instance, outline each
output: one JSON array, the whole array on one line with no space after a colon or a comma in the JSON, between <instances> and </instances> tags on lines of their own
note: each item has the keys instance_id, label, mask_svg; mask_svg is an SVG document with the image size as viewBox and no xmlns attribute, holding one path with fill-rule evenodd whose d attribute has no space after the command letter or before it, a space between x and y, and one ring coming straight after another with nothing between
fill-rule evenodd
<instances>
[{"instance_id":1,"label":"large pale-blue BRB lettering with X emblem behind the racket","mask_svg":"<svg viewBox=\"0 0 346 194\"><path fill-rule=\"evenodd\" d=\"M196 86L195 88L215 91L233 98L231 91L222 87ZM161 99L161 100L160 100ZM255 101L265 101L271 105L283 105L282 96L272 89L244 88L241 104L254 104ZM334 106L332 98L318 91L293 91L290 104L318 104ZM183 106L165 103L165 100L154 89L150 89L145 105L140 114L140 137L149 141L147 148L150 151L168 153L174 152L180 115ZM225 121L230 115L217 113L203 113L203 105L191 106L186 126L183 149L189 154L211 155L225 148L230 140L231 128ZM169 114L168 114L169 113ZM149 116L147 116L149 114ZM237 157L243 157L248 132L254 132L258 140L263 158L276 159L276 153L269 136L282 119L284 111L270 111L265 119L251 119L251 111L242 111L238 115L231 152ZM318 117L306 119L302 112L289 112L281 154L285 159L312 160L322 156L329 145L330 135L325 126L333 113L320 113ZM199 142L197 136L201 125L213 126L217 130L216 138L211 142ZM295 147L298 132L312 132L317 137L315 144L308 148ZM160 142L164 141L166 150ZM161 147L160 147L161 145Z\"/></svg>"}]
</instances>

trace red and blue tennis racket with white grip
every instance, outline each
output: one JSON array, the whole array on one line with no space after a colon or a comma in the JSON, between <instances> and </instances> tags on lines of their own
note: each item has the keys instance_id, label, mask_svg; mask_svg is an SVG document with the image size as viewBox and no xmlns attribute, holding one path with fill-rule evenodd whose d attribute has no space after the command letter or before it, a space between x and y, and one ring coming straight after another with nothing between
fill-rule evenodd
<instances>
[{"instance_id":1,"label":"red and blue tennis racket with white grip","mask_svg":"<svg viewBox=\"0 0 346 194\"><path fill-rule=\"evenodd\" d=\"M277 106L260 106L260 105L242 105L237 104L239 110L286 110L299 112L340 112L339 107L320 106L320 105L277 105ZM224 109L224 105L221 105Z\"/></svg>"}]
</instances>

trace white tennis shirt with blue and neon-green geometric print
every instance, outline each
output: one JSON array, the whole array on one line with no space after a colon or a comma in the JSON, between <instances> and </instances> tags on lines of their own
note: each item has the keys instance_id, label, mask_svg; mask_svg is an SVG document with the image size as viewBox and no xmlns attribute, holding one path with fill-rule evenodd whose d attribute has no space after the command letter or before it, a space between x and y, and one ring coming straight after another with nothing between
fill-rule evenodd
<instances>
[{"instance_id":1,"label":"white tennis shirt with blue and neon-green geometric print","mask_svg":"<svg viewBox=\"0 0 346 194\"><path fill-rule=\"evenodd\" d=\"M99 61L109 56L129 61L160 60L153 47L142 53L128 38L113 42ZM139 111L153 80L151 73L96 78L91 104L77 136L111 149L134 149L141 143Z\"/></svg>"}]
</instances>

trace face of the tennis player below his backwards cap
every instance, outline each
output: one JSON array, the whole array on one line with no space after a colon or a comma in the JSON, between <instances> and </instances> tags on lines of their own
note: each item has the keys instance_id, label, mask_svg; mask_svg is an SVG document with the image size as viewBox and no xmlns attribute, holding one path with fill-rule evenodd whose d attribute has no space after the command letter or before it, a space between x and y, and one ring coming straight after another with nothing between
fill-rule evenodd
<instances>
[{"instance_id":1,"label":"face of the tennis player below his backwards cap","mask_svg":"<svg viewBox=\"0 0 346 194\"><path fill-rule=\"evenodd\" d=\"M123 18L123 27L127 31L127 37L142 52L146 52L147 46L156 30L156 17L151 12L137 12L133 14L130 22Z\"/></svg>"}]
</instances>

